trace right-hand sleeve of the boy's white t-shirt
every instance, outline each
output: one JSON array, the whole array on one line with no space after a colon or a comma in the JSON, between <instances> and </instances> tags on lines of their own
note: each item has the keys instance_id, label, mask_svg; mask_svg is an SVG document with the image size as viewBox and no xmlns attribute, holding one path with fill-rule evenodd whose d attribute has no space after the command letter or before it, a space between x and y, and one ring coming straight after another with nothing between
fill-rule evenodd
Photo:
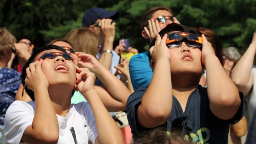
<instances>
[{"instance_id":1,"label":"right-hand sleeve of the boy's white t-shirt","mask_svg":"<svg viewBox=\"0 0 256 144\"><path fill-rule=\"evenodd\" d=\"M92 144L94 144L96 138L98 137L97 126L96 126L96 122L92 112L92 108L88 103L84 103L84 104L86 104L84 108L84 117L88 124L88 129L87 129L88 142L89 143L91 142Z\"/></svg>"}]
</instances>

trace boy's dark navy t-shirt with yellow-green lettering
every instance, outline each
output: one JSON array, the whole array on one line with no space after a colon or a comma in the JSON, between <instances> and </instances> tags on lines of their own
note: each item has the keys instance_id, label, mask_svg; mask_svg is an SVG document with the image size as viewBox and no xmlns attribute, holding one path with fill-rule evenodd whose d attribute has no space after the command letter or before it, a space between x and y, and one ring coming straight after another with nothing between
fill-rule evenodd
<instances>
[{"instance_id":1,"label":"boy's dark navy t-shirt with yellow-green lettering","mask_svg":"<svg viewBox=\"0 0 256 144\"><path fill-rule=\"evenodd\" d=\"M126 112L129 125L132 129L133 138L136 139L144 131L151 130L142 127L137 118L137 109L141 104L141 99L148 87L141 87L133 92L127 100ZM236 124L244 115L244 96L239 92L241 104L236 115L229 120L222 120L213 115L210 110L210 102L207 89L199 85L192 92L187 101L185 112L180 106L179 101L172 96L172 112L167 122L161 126L171 131L172 122L177 119L183 120L182 134L188 140L188 133L193 143L227 144L229 124ZM154 106L152 106L154 108ZM182 123L182 122L181 122Z\"/></svg>"}]
</instances>

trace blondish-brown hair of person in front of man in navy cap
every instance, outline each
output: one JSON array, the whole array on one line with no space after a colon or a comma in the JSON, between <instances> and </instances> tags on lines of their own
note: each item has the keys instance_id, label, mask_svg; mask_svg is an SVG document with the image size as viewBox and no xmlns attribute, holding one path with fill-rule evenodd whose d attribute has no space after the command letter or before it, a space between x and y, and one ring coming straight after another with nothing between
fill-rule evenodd
<instances>
[{"instance_id":1,"label":"blondish-brown hair of person in front of man in navy cap","mask_svg":"<svg viewBox=\"0 0 256 144\"><path fill-rule=\"evenodd\" d=\"M89 28L74 29L65 36L65 39L76 52L84 52L93 56L98 53L99 39Z\"/></svg>"}]
</instances>

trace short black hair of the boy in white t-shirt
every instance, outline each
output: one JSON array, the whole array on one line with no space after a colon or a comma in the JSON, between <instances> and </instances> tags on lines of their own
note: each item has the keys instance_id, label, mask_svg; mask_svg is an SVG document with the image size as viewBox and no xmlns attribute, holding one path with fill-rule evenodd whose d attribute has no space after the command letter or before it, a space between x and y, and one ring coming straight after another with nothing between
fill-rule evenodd
<instances>
[{"instance_id":1,"label":"short black hair of the boy in white t-shirt","mask_svg":"<svg viewBox=\"0 0 256 144\"><path fill-rule=\"evenodd\" d=\"M27 73L26 73L26 68L29 67L29 64L34 62L34 59L35 57L40 53L40 52L43 52L43 51L46 51L46 50L52 50L52 49L55 49L55 50L59 50L59 51L62 51L62 52L65 52L67 53L64 49L62 49L61 47L57 46L57 45L47 45L47 46L43 46L43 47L40 47L39 49L37 49L35 52L32 53L32 55L30 56L30 58L28 59L28 61L26 62L26 64L24 65L24 67L22 68L22 74L21 74L21 82L23 84L23 86L25 85L25 79L26 79L26 76L27 76ZM32 90L29 90L27 87L25 87L25 90L28 94L28 96L33 100L35 101L35 96L34 96L34 92ZM75 90L73 90L72 92L72 96L74 94Z\"/></svg>"}]
</instances>

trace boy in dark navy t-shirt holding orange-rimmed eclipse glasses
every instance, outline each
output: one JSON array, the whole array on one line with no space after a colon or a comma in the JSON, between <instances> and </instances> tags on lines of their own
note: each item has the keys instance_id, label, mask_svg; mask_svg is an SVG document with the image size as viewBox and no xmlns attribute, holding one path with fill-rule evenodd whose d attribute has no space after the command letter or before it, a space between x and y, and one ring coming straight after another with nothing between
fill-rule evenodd
<instances>
[{"instance_id":1,"label":"boy in dark navy t-shirt holding orange-rimmed eclipse glasses","mask_svg":"<svg viewBox=\"0 0 256 144\"><path fill-rule=\"evenodd\" d=\"M172 23L151 46L152 80L132 93L126 105L133 138L160 126L193 143L228 143L229 124L243 117L243 94L205 36ZM199 85L204 69L207 88Z\"/></svg>"}]
</instances>

